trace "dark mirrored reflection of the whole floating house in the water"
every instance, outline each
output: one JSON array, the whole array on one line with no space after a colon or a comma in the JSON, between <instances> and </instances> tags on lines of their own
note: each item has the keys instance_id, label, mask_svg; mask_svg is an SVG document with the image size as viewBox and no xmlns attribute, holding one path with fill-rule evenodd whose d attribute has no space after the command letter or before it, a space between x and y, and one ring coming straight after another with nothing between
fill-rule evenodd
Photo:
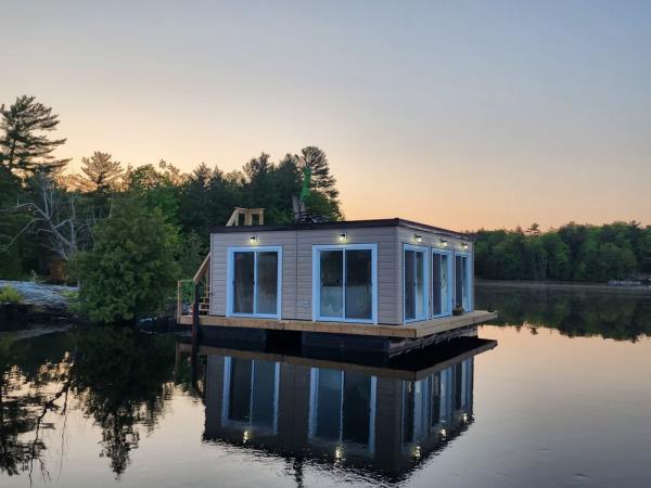
<instances>
[{"instance_id":1,"label":"dark mirrored reflection of the whole floating house in the water","mask_svg":"<svg viewBox=\"0 0 651 488\"><path fill-rule=\"evenodd\" d=\"M387 367L202 348L205 438L400 477L473 421L474 356L496 343L459 342Z\"/></svg>"}]
</instances>

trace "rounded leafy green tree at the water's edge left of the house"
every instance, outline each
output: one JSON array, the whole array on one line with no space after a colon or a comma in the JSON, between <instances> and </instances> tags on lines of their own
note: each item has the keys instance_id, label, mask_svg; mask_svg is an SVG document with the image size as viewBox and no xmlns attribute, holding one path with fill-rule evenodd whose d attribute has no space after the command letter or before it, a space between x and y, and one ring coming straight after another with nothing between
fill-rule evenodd
<instances>
[{"instance_id":1,"label":"rounded leafy green tree at the water's edge left of the house","mask_svg":"<svg viewBox=\"0 0 651 488\"><path fill-rule=\"evenodd\" d=\"M118 198L95 228L94 247L74 262L81 310L97 322L132 322L163 311L180 269L178 230L142 197Z\"/></svg>"}]
</instances>

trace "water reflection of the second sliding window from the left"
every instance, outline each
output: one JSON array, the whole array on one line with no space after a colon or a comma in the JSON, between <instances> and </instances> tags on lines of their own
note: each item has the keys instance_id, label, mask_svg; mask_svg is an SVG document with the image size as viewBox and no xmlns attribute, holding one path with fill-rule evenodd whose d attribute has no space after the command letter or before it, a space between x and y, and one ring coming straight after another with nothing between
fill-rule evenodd
<instances>
[{"instance_id":1,"label":"water reflection of the second sliding window from the left","mask_svg":"<svg viewBox=\"0 0 651 488\"><path fill-rule=\"evenodd\" d=\"M309 436L374 445L376 380L361 373L312 368Z\"/></svg>"}]
</instances>

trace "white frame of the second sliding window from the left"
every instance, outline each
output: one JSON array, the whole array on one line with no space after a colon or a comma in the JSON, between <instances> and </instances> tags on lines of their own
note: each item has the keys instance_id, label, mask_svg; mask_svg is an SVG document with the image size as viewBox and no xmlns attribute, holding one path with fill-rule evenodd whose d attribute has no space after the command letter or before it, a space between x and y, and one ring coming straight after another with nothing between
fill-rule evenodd
<instances>
[{"instance_id":1,"label":"white frame of the second sliding window from the left","mask_svg":"<svg viewBox=\"0 0 651 488\"><path fill-rule=\"evenodd\" d=\"M346 319L345 317L321 317L321 252L322 251L370 251L371 252L371 319ZM344 293L343 311L346 313L346 253L343 259ZM378 244L333 244L312 246L312 321L378 323Z\"/></svg>"}]
</instances>

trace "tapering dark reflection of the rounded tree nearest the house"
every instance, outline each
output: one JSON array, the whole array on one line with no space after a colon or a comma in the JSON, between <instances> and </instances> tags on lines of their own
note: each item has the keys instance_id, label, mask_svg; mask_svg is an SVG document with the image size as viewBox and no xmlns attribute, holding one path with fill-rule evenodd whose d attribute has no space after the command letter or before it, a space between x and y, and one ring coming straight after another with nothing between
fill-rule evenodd
<instances>
[{"instance_id":1,"label":"tapering dark reflection of the rounded tree nearest the house","mask_svg":"<svg viewBox=\"0 0 651 488\"><path fill-rule=\"evenodd\" d=\"M174 338L103 328L82 333L78 349L74 389L102 428L100 455L119 475L140 441L138 426L151 432L171 396Z\"/></svg>"}]
</instances>

